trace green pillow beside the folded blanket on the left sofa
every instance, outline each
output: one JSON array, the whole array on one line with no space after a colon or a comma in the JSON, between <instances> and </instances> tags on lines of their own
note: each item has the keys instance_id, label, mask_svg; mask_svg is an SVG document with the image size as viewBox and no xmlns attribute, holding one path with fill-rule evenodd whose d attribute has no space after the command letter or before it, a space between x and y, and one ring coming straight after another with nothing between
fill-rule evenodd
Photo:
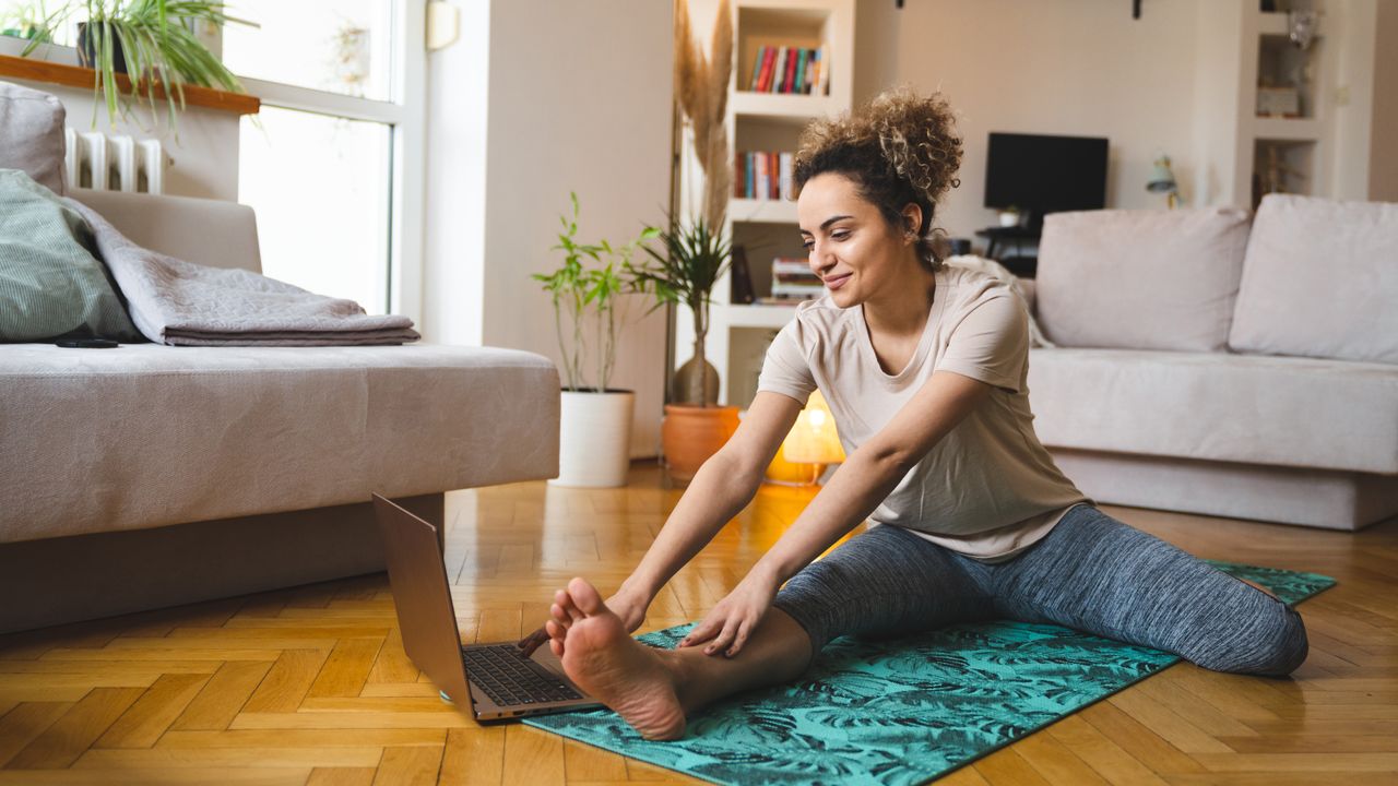
<instances>
[{"instance_id":1,"label":"green pillow beside the folded blanket on the left sofa","mask_svg":"<svg viewBox=\"0 0 1398 786\"><path fill-rule=\"evenodd\" d=\"M77 211L20 169L0 169L0 341L144 341L94 248Z\"/></svg>"}]
</instances>

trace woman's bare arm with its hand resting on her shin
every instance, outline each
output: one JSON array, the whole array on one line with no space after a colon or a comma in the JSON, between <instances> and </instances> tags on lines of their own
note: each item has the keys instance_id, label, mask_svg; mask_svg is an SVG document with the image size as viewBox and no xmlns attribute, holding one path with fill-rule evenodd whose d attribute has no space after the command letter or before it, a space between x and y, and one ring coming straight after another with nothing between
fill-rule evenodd
<instances>
[{"instance_id":1,"label":"woman's bare arm with its hand resting on her shin","mask_svg":"<svg viewBox=\"0 0 1398 786\"><path fill-rule=\"evenodd\" d=\"M993 387L935 372L872 439L856 450L747 578L681 642L737 655L777 589L878 508L905 474L966 418ZM712 642L710 642L712 639Z\"/></svg>"}]
</instances>

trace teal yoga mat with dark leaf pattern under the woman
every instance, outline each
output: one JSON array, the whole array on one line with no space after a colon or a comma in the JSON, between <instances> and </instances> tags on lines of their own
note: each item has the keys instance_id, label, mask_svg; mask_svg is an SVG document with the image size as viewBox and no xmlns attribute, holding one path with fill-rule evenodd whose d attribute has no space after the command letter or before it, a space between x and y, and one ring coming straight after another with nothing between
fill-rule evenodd
<instances>
[{"instance_id":1,"label":"teal yoga mat with dark leaf pattern under the woman","mask_svg":"<svg viewBox=\"0 0 1398 786\"><path fill-rule=\"evenodd\" d=\"M1289 604L1328 576L1213 562ZM689 625L640 636L672 648ZM1179 662L1058 625L955 625L893 642L830 642L795 683L720 702L685 738L642 740L611 710L526 720L716 783L923 783Z\"/></svg>"}]
</instances>

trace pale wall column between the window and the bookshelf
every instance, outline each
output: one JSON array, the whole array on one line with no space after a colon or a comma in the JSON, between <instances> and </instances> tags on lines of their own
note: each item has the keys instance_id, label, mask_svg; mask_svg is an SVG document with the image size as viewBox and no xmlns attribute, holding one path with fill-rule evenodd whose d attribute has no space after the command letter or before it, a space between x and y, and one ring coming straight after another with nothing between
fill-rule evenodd
<instances>
[{"instance_id":1,"label":"pale wall column between the window and the bookshelf","mask_svg":"<svg viewBox=\"0 0 1398 786\"><path fill-rule=\"evenodd\" d=\"M428 66L428 338L528 350L556 362L552 305L530 274L561 263L549 248L568 193L582 201L584 241L625 241L664 220L671 6L460 6L467 39ZM654 456L660 441L663 313L625 331L611 383L636 392L633 456Z\"/></svg>"}]
</instances>

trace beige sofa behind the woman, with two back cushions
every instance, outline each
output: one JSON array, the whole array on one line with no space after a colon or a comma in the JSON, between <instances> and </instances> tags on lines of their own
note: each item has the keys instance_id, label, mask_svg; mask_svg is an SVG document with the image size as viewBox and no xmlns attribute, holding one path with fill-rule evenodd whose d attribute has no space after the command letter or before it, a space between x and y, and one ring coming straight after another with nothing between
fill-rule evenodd
<instances>
[{"instance_id":1,"label":"beige sofa behind the woman, with two back cushions","mask_svg":"<svg viewBox=\"0 0 1398 786\"><path fill-rule=\"evenodd\" d=\"M1398 513L1398 206L1050 215L1032 301L1035 429L1099 502Z\"/></svg>"}]
</instances>

